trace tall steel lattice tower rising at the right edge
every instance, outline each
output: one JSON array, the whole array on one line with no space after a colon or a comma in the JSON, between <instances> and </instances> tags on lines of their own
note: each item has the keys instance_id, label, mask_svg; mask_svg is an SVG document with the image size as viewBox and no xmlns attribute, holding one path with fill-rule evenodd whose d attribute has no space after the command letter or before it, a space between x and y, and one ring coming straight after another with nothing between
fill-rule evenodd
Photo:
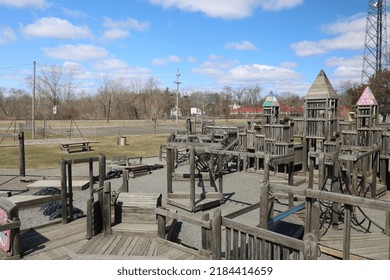
<instances>
[{"instance_id":1,"label":"tall steel lattice tower rising at the right edge","mask_svg":"<svg viewBox=\"0 0 390 280\"><path fill-rule=\"evenodd\" d=\"M363 84L367 84L372 75L389 66L386 18L386 0L368 0L362 71Z\"/></svg>"}]
</instances>

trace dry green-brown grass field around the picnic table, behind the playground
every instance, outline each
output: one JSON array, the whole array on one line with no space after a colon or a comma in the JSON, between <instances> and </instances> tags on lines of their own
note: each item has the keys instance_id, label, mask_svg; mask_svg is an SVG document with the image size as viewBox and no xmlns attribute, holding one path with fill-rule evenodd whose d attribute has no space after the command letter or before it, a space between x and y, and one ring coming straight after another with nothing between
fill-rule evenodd
<instances>
[{"instance_id":1,"label":"dry green-brown grass field around the picnic table, behind the playground","mask_svg":"<svg viewBox=\"0 0 390 280\"><path fill-rule=\"evenodd\" d=\"M235 125L245 124L246 120L232 119L226 121L225 119L216 120L216 124L223 125ZM173 120L159 121L160 125L174 125ZM99 136L88 137L89 141L96 141L98 143L92 144L93 151L68 154L60 150L59 142L54 143L53 140L65 139L64 135L57 135L49 133L46 140L41 141L41 134L39 128L44 125L50 129L62 128L66 130L71 126L70 120L50 120L44 124L43 121L36 121L36 137L38 143L27 143L32 139L31 133L25 133L25 160L26 169L42 169L42 168L57 168L61 158L72 159L80 157L94 157L98 154L103 154L107 159L110 159L114 155L126 155L126 156L143 156L152 157L158 156L160 145L166 143L168 134L153 135L153 123L150 120L110 120L107 123L106 120L77 120L73 125L82 128L97 128L97 127L142 127L149 130L149 134L142 135L121 135L126 137L126 146L118 145L118 135L112 136ZM28 127L31 123L26 121L11 121L0 120L0 134L13 134L18 133L19 128ZM185 120L180 120L178 127L180 129L185 128ZM31 142L31 141L30 141ZM0 139L0 169L18 169L19 168L19 148L17 137L1 137Z\"/></svg>"}]
</instances>

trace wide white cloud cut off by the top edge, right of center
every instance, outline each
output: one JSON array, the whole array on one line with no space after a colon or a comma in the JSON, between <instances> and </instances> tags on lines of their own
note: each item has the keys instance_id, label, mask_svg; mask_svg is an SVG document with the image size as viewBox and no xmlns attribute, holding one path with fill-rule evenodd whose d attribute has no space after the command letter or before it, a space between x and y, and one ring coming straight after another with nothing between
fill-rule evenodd
<instances>
[{"instance_id":1,"label":"wide white cloud cut off by the top edge, right of center","mask_svg":"<svg viewBox=\"0 0 390 280\"><path fill-rule=\"evenodd\" d=\"M223 19L241 19L251 16L256 9L279 11L291 9L303 3L303 0L149 0L152 4L165 9L177 8L188 12L201 12L209 17Z\"/></svg>"}]
</instances>

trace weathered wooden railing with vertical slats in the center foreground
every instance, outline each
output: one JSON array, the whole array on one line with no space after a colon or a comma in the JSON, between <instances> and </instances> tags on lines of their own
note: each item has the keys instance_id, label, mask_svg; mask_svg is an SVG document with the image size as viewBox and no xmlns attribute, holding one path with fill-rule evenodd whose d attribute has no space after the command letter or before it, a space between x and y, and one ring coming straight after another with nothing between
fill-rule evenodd
<instances>
[{"instance_id":1,"label":"weathered wooden railing with vertical slats in the center foreground","mask_svg":"<svg viewBox=\"0 0 390 280\"><path fill-rule=\"evenodd\" d=\"M259 207L258 204L249 207L248 211L256 207ZM220 209L215 210L211 218L208 214L201 218L194 218L163 208L157 208L156 215L159 237L163 239L167 235L167 218L198 226L201 236L201 248L198 250L202 255L209 255L212 259L299 260L317 258L317 239L313 234L307 234L304 240L295 239L239 223L233 220L235 215L221 217ZM223 231L226 232L225 238L222 237Z\"/></svg>"}]
</instances>

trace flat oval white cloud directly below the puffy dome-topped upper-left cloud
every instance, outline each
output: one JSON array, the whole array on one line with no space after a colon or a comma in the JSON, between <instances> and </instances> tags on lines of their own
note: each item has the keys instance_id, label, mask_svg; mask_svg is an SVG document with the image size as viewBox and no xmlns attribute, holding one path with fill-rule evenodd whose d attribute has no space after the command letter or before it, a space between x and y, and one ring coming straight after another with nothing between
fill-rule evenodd
<instances>
[{"instance_id":1,"label":"flat oval white cloud directly below the puffy dome-topped upper-left cloud","mask_svg":"<svg viewBox=\"0 0 390 280\"><path fill-rule=\"evenodd\" d=\"M46 56L62 60L90 60L104 58L108 52L104 48L94 45L60 45L56 48L43 48Z\"/></svg>"}]
</instances>

